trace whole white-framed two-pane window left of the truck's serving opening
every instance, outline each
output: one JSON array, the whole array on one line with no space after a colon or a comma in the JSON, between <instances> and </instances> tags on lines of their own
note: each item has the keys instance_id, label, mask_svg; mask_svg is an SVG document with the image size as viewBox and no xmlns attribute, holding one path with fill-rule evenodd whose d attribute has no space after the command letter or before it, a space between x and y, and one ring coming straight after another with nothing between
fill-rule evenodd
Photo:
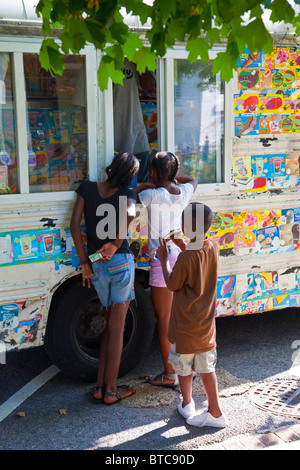
<instances>
[{"instance_id":1,"label":"whole white-framed two-pane window left of the truck's serving opening","mask_svg":"<svg viewBox=\"0 0 300 470\"><path fill-rule=\"evenodd\" d=\"M72 191L91 177L86 68L92 55L66 56L62 76L54 77L41 67L37 45L20 48L0 52L0 194Z\"/></svg>"}]
</instances>

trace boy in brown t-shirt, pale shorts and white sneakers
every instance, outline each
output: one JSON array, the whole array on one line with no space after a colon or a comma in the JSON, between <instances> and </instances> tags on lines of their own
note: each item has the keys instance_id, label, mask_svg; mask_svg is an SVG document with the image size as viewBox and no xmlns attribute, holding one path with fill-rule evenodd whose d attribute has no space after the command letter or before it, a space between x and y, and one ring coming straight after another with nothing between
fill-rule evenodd
<instances>
[{"instance_id":1,"label":"boy in brown t-shirt, pale shorts and white sneakers","mask_svg":"<svg viewBox=\"0 0 300 470\"><path fill-rule=\"evenodd\" d=\"M190 209L192 223L188 224ZM212 222L212 211L204 204L192 203L183 216L184 234L191 241L178 256L173 271L168 262L166 240L160 240L156 252L167 287L174 292L168 338L171 343L169 362L179 376L182 393L178 411L192 426L225 427L227 419L220 409L215 374L219 247L214 240L205 237ZM208 400L208 410L198 415L192 399L194 371L200 373Z\"/></svg>"}]
</instances>

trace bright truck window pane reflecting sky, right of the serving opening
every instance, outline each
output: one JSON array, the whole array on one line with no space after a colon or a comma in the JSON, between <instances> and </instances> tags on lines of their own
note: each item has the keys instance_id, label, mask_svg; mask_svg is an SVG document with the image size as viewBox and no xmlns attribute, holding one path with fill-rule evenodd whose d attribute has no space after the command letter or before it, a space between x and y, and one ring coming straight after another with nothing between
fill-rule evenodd
<instances>
[{"instance_id":1,"label":"bright truck window pane reflecting sky, right of the serving opening","mask_svg":"<svg viewBox=\"0 0 300 470\"><path fill-rule=\"evenodd\" d=\"M174 60L175 153L199 183L222 181L224 89L211 62Z\"/></svg>"}]
</instances>

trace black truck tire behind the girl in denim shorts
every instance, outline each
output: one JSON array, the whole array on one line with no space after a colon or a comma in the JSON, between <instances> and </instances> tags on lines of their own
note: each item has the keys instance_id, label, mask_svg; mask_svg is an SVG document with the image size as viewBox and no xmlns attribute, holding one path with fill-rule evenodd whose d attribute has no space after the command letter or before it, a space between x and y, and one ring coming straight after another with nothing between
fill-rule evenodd
<instances>
[{"instance_id":1,"label":"black truck tire behind the girl in denim shorts","mask_svg":"<svg viewBox=\"0 0 300 470\"><path fill-rule=\"evenodd\" d=\"M135 367L149 348L154 332L154 309L148 294L136 282L136 300L130 303L119 377ZM98 371L104 307L93 287L82 286L81 276L57 294L47 322L45 349L65 374L94 381Z\"/></svg>"}]
</instances>

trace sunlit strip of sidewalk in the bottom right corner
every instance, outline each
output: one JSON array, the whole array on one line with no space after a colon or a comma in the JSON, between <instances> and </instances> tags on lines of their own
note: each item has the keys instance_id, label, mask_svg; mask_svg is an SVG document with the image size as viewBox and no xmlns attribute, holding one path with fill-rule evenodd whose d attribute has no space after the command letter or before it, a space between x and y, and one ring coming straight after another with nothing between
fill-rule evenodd
<instances>
[{"instance_id":1,"label":"sunlit strip of sidewalk in the bottom right corner","mask_svg":"<svg viewBox=\"0 0 300 470\"><path fill-rule=\"evenodd\" d=\"M300 424L266 434L233 437L201 450L300 450Z\"/></svg>"}]
</instances>

